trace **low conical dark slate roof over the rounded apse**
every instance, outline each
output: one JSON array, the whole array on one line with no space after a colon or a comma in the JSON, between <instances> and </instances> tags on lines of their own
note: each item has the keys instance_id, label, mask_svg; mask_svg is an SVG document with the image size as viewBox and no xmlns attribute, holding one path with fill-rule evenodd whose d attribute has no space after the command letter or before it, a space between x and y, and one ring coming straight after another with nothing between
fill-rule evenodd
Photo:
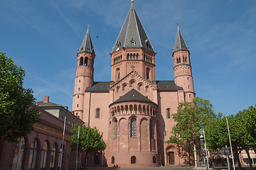
<instances>
[{"instance_id":1,"label":"low conical dark slate roof over the rounded apse","mask_svg":"<svg viewBox=\"0 0 256 170\"><path fill-rule=\"evenodd\" d=\"M139 91L132 89L128 91L124 96L117 99L117 101L114 101L114 103L119 103L123 101L146 101L152 103L153 101L149 100L146 96L139 93Z\"/></svg>"}]
</instances>

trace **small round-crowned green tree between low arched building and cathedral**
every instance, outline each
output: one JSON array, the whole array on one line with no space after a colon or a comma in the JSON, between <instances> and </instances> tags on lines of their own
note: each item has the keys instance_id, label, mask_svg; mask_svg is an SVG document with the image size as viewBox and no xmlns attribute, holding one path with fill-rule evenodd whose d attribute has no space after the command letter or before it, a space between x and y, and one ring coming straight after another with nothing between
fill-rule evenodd
<instances>
[{"instance_id":1,"label":"small round-crowned green tree between low arched building and cathedral","mask_svg":"<svg viewBox=\"0 0 256 170\"><path fill-rule=\"evenodd\" d=\"M86 127L85 125L80 127L79 141L78 125L74 125L71 131L73 132L73 135L71 136L70 149L76 151L78 146L78 152L86 152L85 165L88 152L101 152L106 149L107 145L96 128Z\"/></svg>"}]
</instances>

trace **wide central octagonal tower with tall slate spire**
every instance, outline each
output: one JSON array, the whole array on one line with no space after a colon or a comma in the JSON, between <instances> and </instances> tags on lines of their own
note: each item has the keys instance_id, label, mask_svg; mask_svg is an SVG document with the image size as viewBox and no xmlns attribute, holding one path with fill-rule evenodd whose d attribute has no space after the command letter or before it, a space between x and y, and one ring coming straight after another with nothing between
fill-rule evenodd
<instances>
[{"instance_id":1,"label":"wide central octagonal tower with tall slate spire","mask_svg":"<svg viewBox=\"0 0 256 170\"><path fill-rule=\"evenodd\" d=\"M133 1L110 55L112 81L119 81L133 70L144 79L156 81L156 52L139 20Z\"/></svg>"}]
</instances>

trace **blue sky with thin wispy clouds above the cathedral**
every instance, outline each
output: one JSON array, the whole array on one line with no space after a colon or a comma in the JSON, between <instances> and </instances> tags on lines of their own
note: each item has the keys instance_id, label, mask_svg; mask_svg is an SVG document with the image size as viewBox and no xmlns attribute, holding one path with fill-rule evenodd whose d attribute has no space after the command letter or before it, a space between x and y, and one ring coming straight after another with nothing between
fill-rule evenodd
<instances>
[{"instance_id":1,"label":"blue sky with thin wispy clouds above the cathedral","mask_svg":"<svg viewBox=\"0 0 256 170\"><path fill-rule=\"evenodd\" d=\"M129 0L0 0L0 51L26 71L37 101L72 110L76 55L90 24L95 81L110 81L110 52ZM196 96L216 113L256 104L256 1L134 0L156 54L156 80L174 80L172 48L180 23L191 52ZM100 38L96 38L99 36Z\"/></svg>"}]
</instances>

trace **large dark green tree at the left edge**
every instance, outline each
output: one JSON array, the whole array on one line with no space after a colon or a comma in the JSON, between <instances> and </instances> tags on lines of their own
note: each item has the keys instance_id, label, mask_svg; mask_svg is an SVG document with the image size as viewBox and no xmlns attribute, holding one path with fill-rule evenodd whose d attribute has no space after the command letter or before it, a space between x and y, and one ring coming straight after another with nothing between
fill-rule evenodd
<instances>
[{"instance_id":1,"label":"large dark green tree at the left edge","mask_svg":"<svg viewBox=\"0 0 256 170\"><path fill-rule=\"evenodd\" d=\"M30 108L33 91L23 88L24 76L24 70L0 52L0 136L9 142L28 135L39 121L40 112Z\"/></svg>"}]
</instances>

